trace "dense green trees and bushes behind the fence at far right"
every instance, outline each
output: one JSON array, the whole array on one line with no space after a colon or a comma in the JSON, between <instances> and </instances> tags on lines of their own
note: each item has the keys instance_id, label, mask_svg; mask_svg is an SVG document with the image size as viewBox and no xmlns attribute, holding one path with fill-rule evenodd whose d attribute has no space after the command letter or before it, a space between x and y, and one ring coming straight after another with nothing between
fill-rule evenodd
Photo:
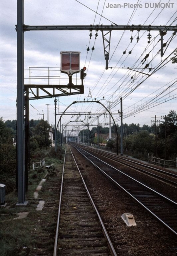
<instances>
[{"instance_id":1,"label":"dense green trees and bushes behind the fence at far right","mask_svg":"<svg viewBox=\"0 0 177 256\"><path fill-rule=\"evenodd\" d=\"M147 157L147 153L157 157L175 160L177 156L177 113L171 110L161 124L153 128L150 133L149 126L143 126L139 132L127 136L126 149L134 156ZM149 131L149 132L148 132ZM125 150L125 148L124 148ZM172 159L173 158L173 159Z\"/></svg>"}]
</instances>

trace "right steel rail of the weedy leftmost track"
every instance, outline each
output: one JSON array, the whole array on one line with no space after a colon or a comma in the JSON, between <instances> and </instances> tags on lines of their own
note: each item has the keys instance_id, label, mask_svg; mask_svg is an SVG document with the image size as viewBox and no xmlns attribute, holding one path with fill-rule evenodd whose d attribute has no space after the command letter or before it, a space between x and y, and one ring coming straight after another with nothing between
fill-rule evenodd
<instances>
[{"instance_id":1,"label":"right steel rail of the weedy leftmost track","mask_svg":"<svg viewBox=\"0 0 177 256\"><path fill-rule=\"evenodd\" d=\"M70 146L69 146L69 147L70 147ZM82 174L81 174L81 172L80 172L80 169L79 169L79 167L78 167L78 164L76 163L76 160L75 160L75 158L74 158L74 155L73 155L73 153L72 153L71 148L70 148L70 151L71 151L71 154L72 154L72 156L73 156L73 159L74 159L74 162L75 162L75 164L76 164L76 167L77 167L77 169L78 169L78 171L79 171L79 173L80 173L80 176L81 176L81 178L82 178L82 182L83 182L83 184L84 184L84 187L86 188L86 192L87 192L87 194L88 194L89 200L90 200L90 202L91 202L93 208L95 209L95 212L97 213L97 216L98 216L98 218L99 218L99 222L101 223L101 226L102 226L102 229L103 229L103 233L104 233L105 239L107 240L107 244L108 244L108 246L109 246L111 255L117 256L117 254L116 254L116 252L115 252L115 249L114 249L114 247L113 247L113 244L112 244L112 242L111 242L111 240L110 240L110 238L109 238L109 235L107 234L107 231L106 231L106 228L105 228L105 226L104 226L104 224L103 224L103 221L101 220L101 216L99 215L99 212L98 212L98 210L97 210L97 208L96 208L96 206L95 206L95 203L93 202L93 199L92 199L92 197L91 197L91 194L89 193L89 190L88 190L88 188L87 188L87 186L86 186L86 183L85 183L85 181L84 181L84 178L82 177Z\"/></svg>"}]
</instances>

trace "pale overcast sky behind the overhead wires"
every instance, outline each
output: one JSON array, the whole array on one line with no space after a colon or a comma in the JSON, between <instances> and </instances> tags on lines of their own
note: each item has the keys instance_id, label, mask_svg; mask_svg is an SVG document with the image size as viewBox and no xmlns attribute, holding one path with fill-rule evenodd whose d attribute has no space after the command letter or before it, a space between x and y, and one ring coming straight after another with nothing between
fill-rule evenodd
<instances>
[{"instance_id":1,"label":"pale overcast sky behind the overhead wires","mask_svg":"<svg viewBox=\"0 0 177 256\"><path fill-rule=\"evenodd\" d=\"M176 26L177 24L177 2L175 0L131 0L129 2L125 0L25 0L24 24L30 26L90 24ZM166 3L168 5L165 5ZM0 116L3 120L16 119L16 6L16 0L0 1ZM159 31L150 31L149 43L148 31L139 31L139 33L129 30L112 31L107 70L105 70L102 34L98 31L95 39L95 33L96 31L92 31L90 39L90 31L25 32L24 68L27 70L25 71L25 83L29 82L29 68L32 70L31 67L33 69L45 67L47 76L48 69L60 68L61 51L79 51L81 53L80 67L87 67L84 94L58 98L57 106L60 112L63 112L75 100L90 101L96 98L108 108L111 102L111 112L117 113L114 115L115 122L120 124L118 110L120 110L120 97L122 97L123 123L133 122L143 126L144 124L151 125L155 115L165 116L170 110L176 111L177 64L172 64L170 61L177 47L177 36L173 35L173 31L167 31L163 37L163 42L167 43L163 48L163 57L160 53ZM137 37L139 37L138 42ZM92 51L93 46L95 50ZM87 51L88 47L89 51ZM124 51L126 51L125 54L123 54ZM147 54L149 56L145 58ZM142 69L146 64L149 64L150 70L149 68ZM133 70L127 69L128 67ZM40 71L35 75L40 76ZM53 75L51 72L51 76ZM62 76L68 79L66 74ZM47 84L48 81L45 83ZM80 84L79 80L78 83ZM104 100L102 100L103 96ZM49 123L53 125L54 98L30 100L30 119L41 118L42 110L46 120L47 110L49 110ZM74 113L97 114L103 111L101 105L88 102L73 104L67 110L67 112ZM97 116L90 116L89 124L97 125ZM66 124L76 118L88 122L88 115L86 117L67 115L63 117L62 123ZM105 126L105 123L109 122L109 116L100 116L99 122Z\"/></svg>"}]
</instances>

